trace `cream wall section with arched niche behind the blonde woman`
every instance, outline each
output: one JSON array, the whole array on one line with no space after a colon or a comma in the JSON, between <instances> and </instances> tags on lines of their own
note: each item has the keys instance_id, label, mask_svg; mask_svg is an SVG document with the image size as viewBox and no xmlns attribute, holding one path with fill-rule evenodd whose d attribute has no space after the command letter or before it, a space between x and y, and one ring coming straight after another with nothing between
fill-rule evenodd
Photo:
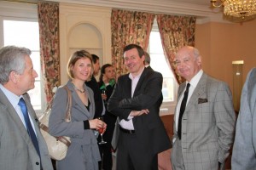
<instances>
[{"instance_id":1,"label":"cream wall section with arched niche behind the blonde woman","mask_svg":"<svg viewBox=\"0 0 256 170\"><path fill-rule=\"evenodd\" d=\"M66 84L67 61L73 52L86 49L111 63L111 8L60 3L61 84ZM96 77L97 78L97 77Z\"/></svg>"}]
</instances>

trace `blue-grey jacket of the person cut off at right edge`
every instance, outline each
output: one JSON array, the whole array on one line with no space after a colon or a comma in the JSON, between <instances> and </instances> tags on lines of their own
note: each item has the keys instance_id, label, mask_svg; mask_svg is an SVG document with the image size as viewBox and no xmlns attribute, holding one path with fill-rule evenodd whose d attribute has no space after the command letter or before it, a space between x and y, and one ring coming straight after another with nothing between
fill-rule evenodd
<instances>
[{"instance_id":1,"label":"blue-grey jacket of the person cut off at right edge","mask_svg":"<svg viewBox=\"0 0 256 170\"><path fill-rule=\"evenodd\" d=\"M256 68L247 75L241 91L241 107L236 122L232 170L256 168Z\"/></svg>"}]
</instances>

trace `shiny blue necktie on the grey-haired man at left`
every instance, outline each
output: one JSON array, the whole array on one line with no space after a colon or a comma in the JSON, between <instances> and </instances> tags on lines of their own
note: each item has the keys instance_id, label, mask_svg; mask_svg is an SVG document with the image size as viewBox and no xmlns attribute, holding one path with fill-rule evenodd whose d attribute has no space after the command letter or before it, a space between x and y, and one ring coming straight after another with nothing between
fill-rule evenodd
<instances>
[{"instance_id":1,"label":"shiny blue necktie on the grey-haired man at left","mask_svg":"<svg viewBox=\"0 0 256 170\"><path fill-rule=\"evenodd\" d=\"M28 116L27 109L26 109L26 103L25 103L23 98L20 98L20 101L19 101L18 105L20 105L20 109L21 109L21 111L23 113L24 120L26 122L27 133L29 134L30 138L32 139L32 143L33 143L35 149L38 152L38 156L40 156L38 139L37 139L36 133L34 132L32 124L31 124L31 122L29 120L29 116Z\"/></svg>"}]
</instances>

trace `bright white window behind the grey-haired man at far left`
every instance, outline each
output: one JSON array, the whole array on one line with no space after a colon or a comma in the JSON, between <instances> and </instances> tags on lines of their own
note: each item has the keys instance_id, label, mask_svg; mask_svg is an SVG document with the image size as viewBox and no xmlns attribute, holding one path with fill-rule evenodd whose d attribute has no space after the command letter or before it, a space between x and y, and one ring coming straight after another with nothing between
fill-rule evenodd
<instances>
[{"instance_id":1,"label":"bright white window behind the grey-haired man at far left","mask_svg":"<svg viewBox=\"0 0 256 170\"><path fill-rule=\"evenodd\" d=\"M4 46L15 45L29 48L32 51L31 59L38 77L35 88L30 90L28 94L30 94L34 109L42 110L38 22L3 20L3 43Z\"/></svg>"}]
</instances>

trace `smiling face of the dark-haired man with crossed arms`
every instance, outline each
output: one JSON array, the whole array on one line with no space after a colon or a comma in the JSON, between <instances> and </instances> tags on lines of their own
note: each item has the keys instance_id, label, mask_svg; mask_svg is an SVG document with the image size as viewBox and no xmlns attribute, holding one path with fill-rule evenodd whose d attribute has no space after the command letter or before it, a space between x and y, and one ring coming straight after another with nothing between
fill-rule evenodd
<instances>
[{"instance_id":1,"label":"smiling face of the dark-haired man with crossed arms","mask_svg":"<svg viewBox=\"0 0 256 170\"><path fill-rule=\"evenodd\" d=\"M124 59L125 66L128 71L131 72L132 76L137 76L143 71L145 56L143 55L140 58L137 48L131 48L130 50L125 51Z\"/></svg>"}]
</instances>

